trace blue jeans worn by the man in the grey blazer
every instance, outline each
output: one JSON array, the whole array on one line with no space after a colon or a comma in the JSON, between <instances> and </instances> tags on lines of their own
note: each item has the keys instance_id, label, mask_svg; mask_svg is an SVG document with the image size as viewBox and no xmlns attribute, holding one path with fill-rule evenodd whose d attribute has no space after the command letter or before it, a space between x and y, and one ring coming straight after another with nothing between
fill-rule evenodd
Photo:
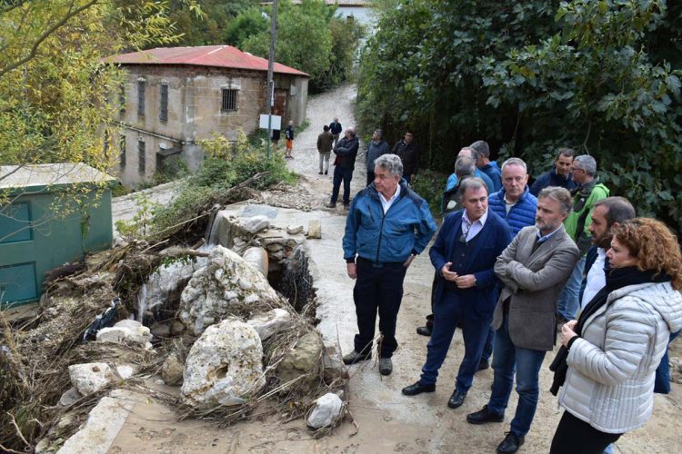
<instances>
[{"instance_id":1,"label":"blue jeans worn by the man in the grey blazer","mask_svg":"<svg viewBox=\"0 0 682 454\"><path fill-rule=\"evenodd\" d=\"M517 347L509 337L508 315L495 334L493 356L493 392L487 403L488 410L502 415L511 395L514 372L517 374L517 413L511 421L511 432L522 437L530 430L536 414L539 396L538 380L542 361L547 351Z\"/></svg>"}]
</instances>

